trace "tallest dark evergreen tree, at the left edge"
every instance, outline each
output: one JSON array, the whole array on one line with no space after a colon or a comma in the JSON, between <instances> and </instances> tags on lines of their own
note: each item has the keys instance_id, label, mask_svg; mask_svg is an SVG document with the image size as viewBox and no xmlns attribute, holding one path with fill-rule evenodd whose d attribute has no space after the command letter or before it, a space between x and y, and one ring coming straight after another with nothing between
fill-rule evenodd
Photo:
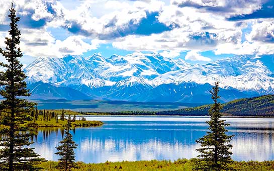
<instances>
[{"instance_id":1,"label":"tallest dark evergreen tree, at the left edge","mask_svg":"<svg viewBox=\"0 0 274 171\"><path fill-rule=\"evenodd\" d=\"M30 93L26 89L23 65L18 60L23 56L19 48L21 32L17 28L20 18L16 17L13 4L9 19L11 20L10 37L6 37L6 49L0 49L0 53L7 60L7 64L0 62L0 66L6 68L5 71L0 72L0 85L4 88L0 90L0 95L4 98L0 103L0 110L5 109L8 113L4 123L7 128L2 131L5 136L0 137L0 170L37 170L34 164L43 159L39 158L33 148L28 147L32 143L29 128L21 127L34 103L22 98L30 96Z\"/></svg>"}]
</instances>

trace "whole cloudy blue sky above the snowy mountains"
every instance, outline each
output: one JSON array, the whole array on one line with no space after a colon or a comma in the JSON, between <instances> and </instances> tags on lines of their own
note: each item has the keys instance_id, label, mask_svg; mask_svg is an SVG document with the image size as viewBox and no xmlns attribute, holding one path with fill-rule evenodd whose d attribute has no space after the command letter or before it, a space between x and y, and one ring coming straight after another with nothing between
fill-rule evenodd
<instances>
[{"instance_id":1,"label":"whole cloudy blue sky above the snowy mountains","mask_svg":"<svg viewBox=\"0 0 274 171\"><path fill-rule=\"evenodd\" d=\"M5 48L11 0L0 1ZM274 54L274 0L20 0L21 59L160 53L190 63ZM0 56L0 60L4 60Z\"/></svg>"}]
</instances>

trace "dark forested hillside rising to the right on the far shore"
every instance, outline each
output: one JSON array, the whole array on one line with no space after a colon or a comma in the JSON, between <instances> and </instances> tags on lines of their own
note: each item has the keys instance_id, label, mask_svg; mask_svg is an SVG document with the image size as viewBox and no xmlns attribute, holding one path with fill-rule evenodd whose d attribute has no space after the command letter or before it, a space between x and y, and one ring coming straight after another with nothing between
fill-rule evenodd
<instances>
[{"instance_id":1,"label":"dark forested hillside rising to the right on the far shore","mask_svg":"<svg viewBox=\"0 0 274 171\"><path fill-rule=\"evenodd\" d=\"M169 111L120 111L104 112L104 115L184 115L184 116L206 116L213 104L192 108L184 108ZM221 104L221 113L231 116L266 116L274 117L274 95L234 100ZM83 114L89 114L82 112Z\"/></svg>"}]
</instances>

